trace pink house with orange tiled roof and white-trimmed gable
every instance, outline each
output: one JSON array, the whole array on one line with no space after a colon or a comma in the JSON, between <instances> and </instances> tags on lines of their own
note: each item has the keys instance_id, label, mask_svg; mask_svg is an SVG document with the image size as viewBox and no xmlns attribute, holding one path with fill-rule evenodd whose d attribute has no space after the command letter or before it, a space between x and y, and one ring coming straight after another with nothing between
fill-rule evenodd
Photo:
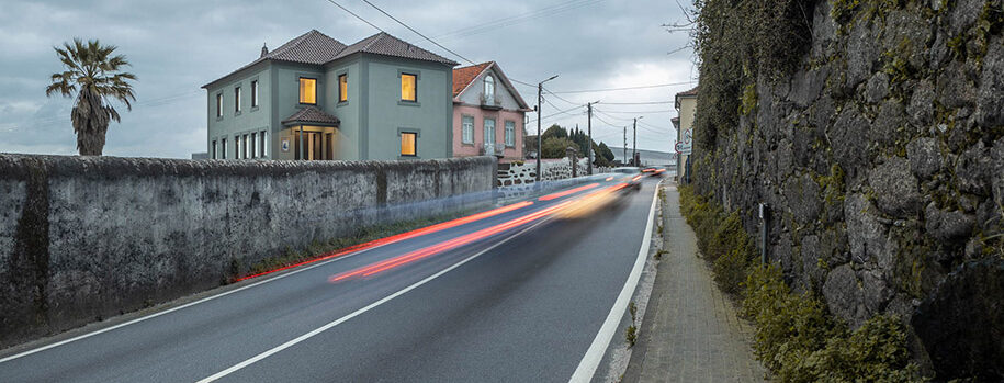
<instances>
[{"instance_id":1,"label":"pink house with orange tiled roof and white-trimmed gable","mask_svg":"<svg viewBox=\"0 0 1004 383\"><path fill-rule=\"evenodd\" d=\"M453 69L453 156L522 159L528 111L495 61Z\"/></svg>"}]
</instances>

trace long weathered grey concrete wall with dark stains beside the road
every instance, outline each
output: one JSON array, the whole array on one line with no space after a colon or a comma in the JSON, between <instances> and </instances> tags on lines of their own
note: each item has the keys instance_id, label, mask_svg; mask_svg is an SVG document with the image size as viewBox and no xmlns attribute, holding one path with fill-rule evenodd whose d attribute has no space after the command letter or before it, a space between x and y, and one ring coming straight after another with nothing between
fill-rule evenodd
<instances>
[{"instance_id":1,"label":"long weathered grey concrete wall with dark stains beside the road","mask_svg":"<svg viewBox=\"0 0 1004 383\"><path fill-rule=\"evenodd\" d=\"M496 169L0 154L0 347L219 285L235 260L487 206Z\"/></svg>"}]
</instances>

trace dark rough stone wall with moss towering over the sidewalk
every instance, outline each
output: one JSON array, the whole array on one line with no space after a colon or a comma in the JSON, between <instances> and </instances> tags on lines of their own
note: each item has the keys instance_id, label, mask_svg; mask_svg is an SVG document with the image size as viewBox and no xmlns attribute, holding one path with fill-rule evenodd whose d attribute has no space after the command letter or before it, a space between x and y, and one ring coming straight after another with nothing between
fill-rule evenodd
<instances>
[{"instance_id":1,"label":"dark rough stone wall with moss towering over the sidewalk","mask_svg":"<svg viewBox=\"0 0 1004 383\"><path fill-rule=\"evenodd\" d=\"M904 317L937 380L1004 379L1002 7L861 2L837 22L816 1L802 65L760 74L738 116L755 134L693 154L698 191L751 234L760 199L775 210L787 281L851 327Z\"/></svg>"}]
</instances>

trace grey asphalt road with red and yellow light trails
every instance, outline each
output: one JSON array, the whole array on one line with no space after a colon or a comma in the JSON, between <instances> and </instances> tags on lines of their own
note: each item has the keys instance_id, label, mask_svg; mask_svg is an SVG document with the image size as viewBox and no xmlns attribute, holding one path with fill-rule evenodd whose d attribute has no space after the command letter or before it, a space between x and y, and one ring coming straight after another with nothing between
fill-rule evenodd
<instances>
[{"instance_id":1,"label":"grey asphalt road with red and yellow light trails","mask_svg":"<svg viewBox=\"0 0 1004 383\"><path fill-rule=\"evenodd\" d=\"M0 352L0 382L568 381L629 280L656 182L587 218L545 213L613 182Z\"/></svg>"}]
</instances>

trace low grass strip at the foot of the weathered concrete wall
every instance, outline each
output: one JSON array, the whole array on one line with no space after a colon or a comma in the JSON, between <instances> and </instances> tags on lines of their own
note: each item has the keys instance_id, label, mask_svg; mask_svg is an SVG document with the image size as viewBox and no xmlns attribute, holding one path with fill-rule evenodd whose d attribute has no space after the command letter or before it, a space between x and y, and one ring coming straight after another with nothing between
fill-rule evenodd
<instances>
[{"instance_id":1,"label":"low grass strip at the foot of the weathered concrete wall","mask_svg":"<svg viewBox=\"0 0 1004 383\"><path fill-rule=\"evenodd\" d=\"M371 240L390 237L393 235L410 232L416 228L426 227L429 225L435 225L438 223L466 216L472 212L473 211L470 210L460 211L435 215L426 218L359 227L354 233L343 237L331 238L324 241L315 240L309 246L298 251L287 247L281 256L268 257L257 263L249 266L248 268L244 267L240 259L232 258L226 282L232 283L247 275L253 275L269 270L275 270L286 266L304 262L311 259L320 258L351 246L365 244Z\"/></svg>"}]
</instances>

